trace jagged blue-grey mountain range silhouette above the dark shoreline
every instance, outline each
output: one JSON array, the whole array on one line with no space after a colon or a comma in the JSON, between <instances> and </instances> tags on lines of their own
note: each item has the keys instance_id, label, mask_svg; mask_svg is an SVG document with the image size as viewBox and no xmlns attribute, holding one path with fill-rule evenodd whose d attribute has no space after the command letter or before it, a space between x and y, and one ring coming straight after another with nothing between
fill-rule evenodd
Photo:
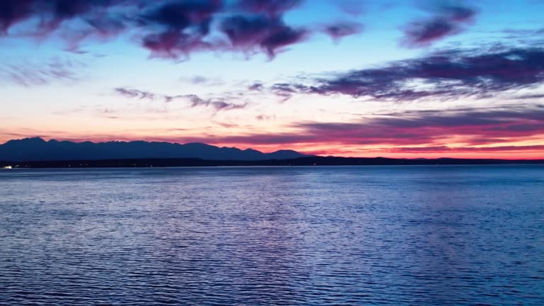
<instances>
[{"instance_id":1,"label":"jagged blue-grey mountain range silhouette above the dark shoreline","mask_svg":"<svg viewBox=\"0 0 544 306\"><path fill-rule=\"evenodd\" d=\"M311 157L293 150L263 153L255 149L216 147L200 142L185 145L170 142L72 142L45 141L40 137L9 140L0 145L0 160L11 162L101 160L101 159L173 159L259 161Z\"/></svg>"}]
</instances>

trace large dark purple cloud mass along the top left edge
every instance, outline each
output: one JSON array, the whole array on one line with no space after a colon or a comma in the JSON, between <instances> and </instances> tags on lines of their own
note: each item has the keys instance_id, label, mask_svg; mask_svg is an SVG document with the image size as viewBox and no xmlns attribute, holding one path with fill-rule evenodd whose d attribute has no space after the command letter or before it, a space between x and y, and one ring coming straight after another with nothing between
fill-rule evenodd
<instances>
[{"instance_id":1,"label":"large dark purple cloud mass along the top left edge","mask_svg":"<svg viewBox=\"0 0 544 306\"><path fill-rule=\"evenodd\" d=\"M300 0L4 0L0 36L61 38L83 53L91 38L136 37L151 57L186 60L194 52L263 53L270 59L315 32L290 26L284 15ZM331 26L336 38L352 28Z\"/></svg>"}]
</instances>

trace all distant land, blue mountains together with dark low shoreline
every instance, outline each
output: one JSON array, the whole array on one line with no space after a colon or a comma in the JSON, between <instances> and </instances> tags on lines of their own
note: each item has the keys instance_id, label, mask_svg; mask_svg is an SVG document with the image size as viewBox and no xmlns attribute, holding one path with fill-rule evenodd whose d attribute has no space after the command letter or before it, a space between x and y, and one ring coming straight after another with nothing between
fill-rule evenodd
<instances>
[{"instance_id":1,"label":"all distant land, blue mountains together with dark low shoreline","mask_svg":"<svg viewBox=\"0 0 544 306\"><path fill-rule=\"evenodd\" d=\"M448 164L544 164L544 159L391 159L319 157L293 150L263 153L254 149L203 143L69 142L39 137L0 145L0 166L13 168L101 168L164 166L356 166Z\"/></svg>"}]
</instances>

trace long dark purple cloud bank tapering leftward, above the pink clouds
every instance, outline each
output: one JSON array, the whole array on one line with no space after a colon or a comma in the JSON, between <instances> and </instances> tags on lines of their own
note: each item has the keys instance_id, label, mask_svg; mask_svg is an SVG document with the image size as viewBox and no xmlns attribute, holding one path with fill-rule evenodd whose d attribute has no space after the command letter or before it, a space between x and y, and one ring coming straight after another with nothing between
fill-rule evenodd
<instances>
[{"instance_id":1,"label":"long dark purple cloud bank tapering leftward, above the pink clouds","mask_svg":"<svg viewBox=\"0 0 544 306\"><path fill-rule=\"evenodd\" d=\"M479 52L446 50L384 67L337 72L310 84L271 86L278 96L342 94L355 98L413 101L419 98L484 97L544 81L544 49L511 48Z\"/></svg>"}]
</instances>

